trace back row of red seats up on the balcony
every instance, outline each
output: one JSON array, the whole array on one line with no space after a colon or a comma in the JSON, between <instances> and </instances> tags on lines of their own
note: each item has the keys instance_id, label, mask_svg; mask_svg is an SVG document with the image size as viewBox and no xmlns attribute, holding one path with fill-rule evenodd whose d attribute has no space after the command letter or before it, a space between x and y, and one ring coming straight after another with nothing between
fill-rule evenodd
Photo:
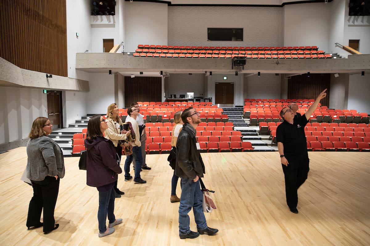
<instances>
[{"instance_id":1,"label":"back row of red seats up on the balcony","mask_svg":"<svg viewBox=\"0 0 370 246\"><path fill-rule=\"evenodd\" d=\"M238 47L238 46L179 46L179 45L138 45L138 49L179 49L179 50L218 50L218 51L240 51L240 50L252 50L252 51L277 51L277 50L282 50L282 51L297 51L297 50L316 50L317 51L317 46L283 46L283 47Z\"/></svg>"}]
</instances>

